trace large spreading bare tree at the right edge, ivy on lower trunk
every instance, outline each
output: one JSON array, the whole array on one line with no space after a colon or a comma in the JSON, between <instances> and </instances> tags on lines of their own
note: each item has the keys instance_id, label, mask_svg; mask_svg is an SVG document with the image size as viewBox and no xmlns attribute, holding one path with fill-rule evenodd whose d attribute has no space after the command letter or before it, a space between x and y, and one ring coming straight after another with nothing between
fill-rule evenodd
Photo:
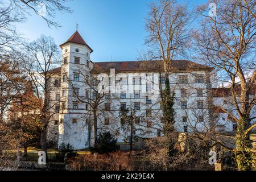
<instances>
[{"instance_id":1,"label":"large spreading bare tree at the right edge, ivy on lower trunk","mask_svg":"<svg viewBox=\"0 0 256 182\"><path fill-rule=\"evenodd\" d=\"M255 115L255 2L218 1L217 16L205 14L208 5L200 6L201 29L195 34L200 59L212 65L220 80L229 86L232 111L220 107L237 123L236 160L240 170L250 170L250 131L256 126ZM225 145L224 145L225 146Z\"/></svg>"}]
</instances>

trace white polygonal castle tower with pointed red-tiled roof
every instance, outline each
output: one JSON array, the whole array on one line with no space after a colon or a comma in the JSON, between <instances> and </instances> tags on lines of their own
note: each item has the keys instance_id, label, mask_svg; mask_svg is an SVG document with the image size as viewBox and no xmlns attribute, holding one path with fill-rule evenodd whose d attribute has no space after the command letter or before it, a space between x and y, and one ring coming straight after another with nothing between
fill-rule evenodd
<instances>
[{"instance_id":1,"label":"white polygonal castle tower with pointed red-tiled roof","mask_svg":"<svg viewBox=\"0 0 256 182\"><path fill-rule=\"evenodd\" d=\"M74 96L74 89L84 97L86 90L84 78L93 68L90 53L93 49L86 44L78 31L60 45L61 62L61 114L59 125L59 146L72 144L76 149L89 147L88 119L90 115L86 104ZM89 75L88 75L89 76Z\"/></svg>"}]
</instances>

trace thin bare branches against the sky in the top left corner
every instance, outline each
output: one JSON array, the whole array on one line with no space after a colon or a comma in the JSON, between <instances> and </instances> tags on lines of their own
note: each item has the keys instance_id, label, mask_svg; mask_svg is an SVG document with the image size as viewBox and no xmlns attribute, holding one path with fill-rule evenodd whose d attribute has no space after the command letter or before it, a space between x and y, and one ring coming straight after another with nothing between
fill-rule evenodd
<instances>
[{"instance_id":1,"label":"thin bare branches against the sky in the top left corner","mask_svg":"<svg viewBox=\"0 0 256 182\"><path fill-rule=\"evenodd\" d=\"M16 31L15 23L24 22L26 14L31 11L46 20L49 27L60 27L55 20L58 11L61 13L72 13L72 10L65 6L69 0L8 0L0 2L0 55L10 49L20 46L21 38Z\"/></svg>"}]
</instances>

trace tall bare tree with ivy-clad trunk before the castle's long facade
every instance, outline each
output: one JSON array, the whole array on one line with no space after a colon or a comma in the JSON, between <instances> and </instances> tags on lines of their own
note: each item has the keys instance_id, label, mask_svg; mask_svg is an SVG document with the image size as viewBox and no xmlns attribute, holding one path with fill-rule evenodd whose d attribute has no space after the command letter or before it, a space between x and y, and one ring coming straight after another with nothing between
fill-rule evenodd
<instances>
[{"instance_id":1,"label":"tall bare tree with ivy-clad trunk before the castle's long facade","mask_svg":"<svg viewBox=\"0 0 256 182\"><path fill-rule=\"evenodd\" d=\"M150 60L162 60L166 87L160 89L161 109L164 118L164 134L174 131L174 92L171 92L169 76L174 57L184 53L188 46L189 25L191 23L188 7L175 1L160 0L152 3L146 19L149 33L146 44L150 47Z\"/></svg>"}]
</instances>

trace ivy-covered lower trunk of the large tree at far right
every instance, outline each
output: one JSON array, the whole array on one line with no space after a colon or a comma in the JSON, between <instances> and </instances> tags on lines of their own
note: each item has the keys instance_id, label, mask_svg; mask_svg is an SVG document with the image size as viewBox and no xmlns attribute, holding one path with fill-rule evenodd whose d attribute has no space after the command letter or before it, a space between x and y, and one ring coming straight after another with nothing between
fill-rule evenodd
<instances>
[{"instance_id":1,"label":"ivy-covered lower trunk of the large tree at far right","mask_svg":"<svg viewBox=\"0 0 256 182\"><path fill-rule=\"evenodd\" d=\"M249 126L249 121L247 117L240 120L237 124L237 134L236 134L236 161L238 169L240 171L249 171L252 167L252 156L250 154L251 140L250 134L246 134L246 130Z\"/></svg>"}]
</instances>

